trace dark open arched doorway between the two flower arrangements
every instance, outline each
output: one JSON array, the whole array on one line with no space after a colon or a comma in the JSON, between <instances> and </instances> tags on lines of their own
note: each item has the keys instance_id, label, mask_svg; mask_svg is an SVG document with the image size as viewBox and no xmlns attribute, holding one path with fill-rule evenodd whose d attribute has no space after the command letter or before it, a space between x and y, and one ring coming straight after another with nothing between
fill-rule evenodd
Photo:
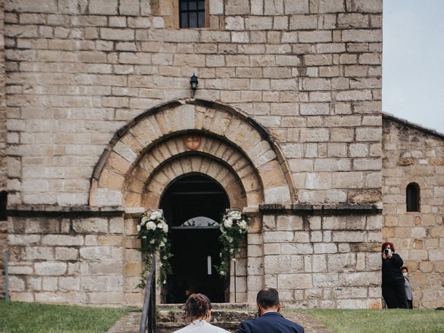
<instances>
[{"instance_id":1,"label":"dark open arched doorway between the two flower arrangements","mask_svg":"<svg viewBox=\"0 0 444 333\"><path fill-rule=\"evenodd\" d=\"M214 269L221 250L219 221L230 207L223 187L201 173L189 173L169 185L160 207L171 228L173 254L166 302L185 302L189 293L204 293L212 302L225 302L228 281Z\"/></svg>"}]
</instances>

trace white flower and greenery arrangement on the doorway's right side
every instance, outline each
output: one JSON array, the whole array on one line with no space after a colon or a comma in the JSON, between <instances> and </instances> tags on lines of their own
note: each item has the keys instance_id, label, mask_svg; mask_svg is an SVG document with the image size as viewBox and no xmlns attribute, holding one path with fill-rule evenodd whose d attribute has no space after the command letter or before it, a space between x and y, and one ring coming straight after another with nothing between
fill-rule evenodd
<instances>
[{"instance_id":1,"label":"white flower and greenery arrangement on the doorway's right side","mask_svg":"<svg viewBox=\"0 0 444 333\"><path fill-rule=\"evenodd\" d=\"M222 250L219 254L221 264L217 266L217 272L224 278L230 272L230 261L236 261L236 255L240 252L240 244L245 239L248 230L248 218L238 208L227 210L222 216L219 229L222 234L219 241L222 243Z\"/></svg>"}]
</instances>

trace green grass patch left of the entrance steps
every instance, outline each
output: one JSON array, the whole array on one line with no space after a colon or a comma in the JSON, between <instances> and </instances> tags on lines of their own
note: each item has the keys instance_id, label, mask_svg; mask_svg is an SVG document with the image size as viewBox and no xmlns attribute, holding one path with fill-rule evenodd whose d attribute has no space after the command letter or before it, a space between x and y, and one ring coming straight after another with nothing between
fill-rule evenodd
<instances>
[{"instance_id":1,"label":"green grass patch left of the entrance steps","mask_svg":"<svg viewBox=\"0 0 444 333\"><path fill-rule=\"evenodd\" d=\"M106 332L130 308L74 307L0 300L0 332Z\"/></svg>"}]
</instances>

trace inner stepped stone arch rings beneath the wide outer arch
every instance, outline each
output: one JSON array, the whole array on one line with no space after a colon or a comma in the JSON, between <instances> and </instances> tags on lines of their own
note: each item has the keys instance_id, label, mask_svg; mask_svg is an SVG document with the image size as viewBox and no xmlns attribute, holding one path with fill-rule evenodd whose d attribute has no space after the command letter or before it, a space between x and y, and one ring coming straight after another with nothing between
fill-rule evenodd
<instances>
[{"instance_id":1,"label":"inner stepped stone arch rings beneath the wide outer arch","mask_svg":"<svg viewBox=\"0 0 444 333\"><path fill-rule=\"evenodd\" d=\"M169 181L191 172L205 173L219 182L228 193L232 207L257 207L263 202L263 185L257 171L237 148L202 133L200 147L189 151L184 143L185 137L177 135L164 139L137 161L133 171L126 176L125 207L156 207L156 196L160 196L161 191L151 191L153 185L149 184L154 182L164 188ZM162 181L158 180L159 175L163 175ZM267 184L271 181L268 179Z\"/></svg>"}]
</instances>

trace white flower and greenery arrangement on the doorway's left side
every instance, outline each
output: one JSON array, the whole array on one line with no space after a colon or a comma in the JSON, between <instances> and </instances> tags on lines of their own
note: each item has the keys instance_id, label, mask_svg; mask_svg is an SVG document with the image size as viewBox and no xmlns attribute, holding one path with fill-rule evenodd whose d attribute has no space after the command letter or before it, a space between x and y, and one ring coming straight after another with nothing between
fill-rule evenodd
<instances>
[{"instance_id":1,"label":"white flower and greenery arrangement on the doorway's left side","mask_svg":"<svg viewBox=\"0 0 444 333\"><path fill-rule=\"evenodd\" d=\"M169 251L167 239L168 224L165 221L162 210L146 210L137 224L137 233L141 240L140 250L144 254L144 267L142 268L141 280L137 287L146 287L146 277L151 271L153 254L156 252L160 258L159 282L167 283L167 275L171 273L169 258L172 257Z\"/></svg>"}]
</instances>

